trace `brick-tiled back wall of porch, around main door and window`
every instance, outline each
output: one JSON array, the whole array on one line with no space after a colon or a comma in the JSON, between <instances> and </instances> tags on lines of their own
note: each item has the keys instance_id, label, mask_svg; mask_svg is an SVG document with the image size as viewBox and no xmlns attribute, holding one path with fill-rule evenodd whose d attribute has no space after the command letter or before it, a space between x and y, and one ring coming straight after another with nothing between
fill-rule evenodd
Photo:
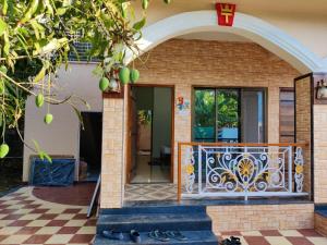
<instances>
[{"instance_id":1,"label":"brick-tiled back wall of porch, around main door and window","mask_svg":"<svg viewBox=\"0 0 327 245\"><path fill-rule=\"evenodd\" d=\"M293 87L298 71L261 46L252 42L168 40L135 61L140 84L170 84L175 97L191 101L192 86L265 87L267 98L267 138L279 142L279 88ZM192 109L191 109L192 110ZM189 115L174 113L174 180L177 143L191 140Z\"/></svg>"}]
</instances>

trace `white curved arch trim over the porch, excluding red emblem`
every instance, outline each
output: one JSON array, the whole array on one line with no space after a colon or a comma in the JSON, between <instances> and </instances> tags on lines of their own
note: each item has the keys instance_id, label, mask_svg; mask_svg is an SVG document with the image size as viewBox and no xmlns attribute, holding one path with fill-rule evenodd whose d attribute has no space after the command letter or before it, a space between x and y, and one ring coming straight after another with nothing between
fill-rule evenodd
<instances>
[{"instance_id":1,"label":"white curved arch trim over the porch, excluding red emblem","mask_svg":"<svg viewBox=\"0 0 327 245\"><path fill-rule=\"evenodd\" d=\"M216 11L194 11L180 13L158 21L143 29L143 38L137 41L142 52L157 45L189 33L225 32L246 37L276 53L302 73L327 72L327 62L318 58L296 39L271 24L244 13L235 13L232 27L217 24ZM126 61L133 59L132 53Z\"/></svg>"}]
</instances>

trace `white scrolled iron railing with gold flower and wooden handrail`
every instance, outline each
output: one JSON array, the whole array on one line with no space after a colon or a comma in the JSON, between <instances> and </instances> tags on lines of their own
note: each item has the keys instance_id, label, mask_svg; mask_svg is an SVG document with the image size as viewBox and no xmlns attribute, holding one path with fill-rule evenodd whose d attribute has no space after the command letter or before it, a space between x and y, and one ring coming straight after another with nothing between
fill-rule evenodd
<instances>
[{"instance_id":1,"label":"white scrolled iron railing with gold flower and wooden handrail","mask_svg":"<svg viewBox=\"0 0 327 245\"><path fill-rule=\"evenodd\" d=\"M178 198L306 195L303 147L179 143Z\"/></svg>"}]
</instances>

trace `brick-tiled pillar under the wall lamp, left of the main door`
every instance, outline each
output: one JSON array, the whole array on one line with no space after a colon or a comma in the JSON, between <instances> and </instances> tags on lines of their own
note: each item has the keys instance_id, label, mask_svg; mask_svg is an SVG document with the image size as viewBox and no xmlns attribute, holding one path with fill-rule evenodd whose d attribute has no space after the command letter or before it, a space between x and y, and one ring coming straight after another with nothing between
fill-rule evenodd
<instances>
[{"instance_id":1,"label":"brick-tiled pillar under the wall lamp, left of the main door","mask_svg":"<svg viewBox=\"0 0 327 245\"><path fill-rule=\"evenodd\" d=\"M123 201L123 111L122 98L104 98L101 208L121 208Z\"/></svg>"}]
</instances>

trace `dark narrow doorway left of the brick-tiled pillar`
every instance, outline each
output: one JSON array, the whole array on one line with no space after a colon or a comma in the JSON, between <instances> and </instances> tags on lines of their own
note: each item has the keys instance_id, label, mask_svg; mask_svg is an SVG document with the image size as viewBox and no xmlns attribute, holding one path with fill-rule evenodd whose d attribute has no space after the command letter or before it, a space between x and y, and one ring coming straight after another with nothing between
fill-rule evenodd
<instances>
[{"instance_id":1,"label":"dark narrow doorway left of the brick-tiled pillar","mask_svg":"<svg viewBox=\"0 0 327 245\"><path fill-rule=\"evenodd\" d=\"M102 113L82 112L80 131L80 181L97 181L101 171Z\"/></svg>"}]
</instances>

